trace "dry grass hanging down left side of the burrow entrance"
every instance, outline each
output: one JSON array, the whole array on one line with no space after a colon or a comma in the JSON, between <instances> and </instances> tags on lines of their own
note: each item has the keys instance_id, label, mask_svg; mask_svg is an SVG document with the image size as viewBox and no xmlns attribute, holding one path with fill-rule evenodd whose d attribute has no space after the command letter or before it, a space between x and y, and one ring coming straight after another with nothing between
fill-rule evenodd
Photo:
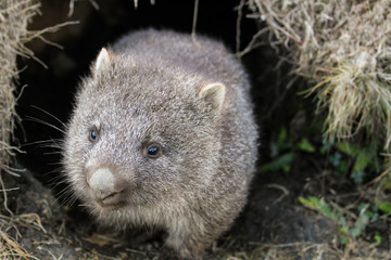
<instances>
[{"instance_id":1,"label":"dry grass hanging down left side of the burrow entrance","mask_svg":"<svg viewBox=\"0 0 391 260\"><path fill-rule=\"evenodd\" d=\"M10 167L10 160L17 148L11 146L10 141L17 120L16 55L34 54L24 43L29 38L26 31L27 23L37 14L38 8L37 2L29 0L5 0L0 3L0 173L15 174ZM1 185L5 196L2 181Z\"/></svg>"}]
</instances>

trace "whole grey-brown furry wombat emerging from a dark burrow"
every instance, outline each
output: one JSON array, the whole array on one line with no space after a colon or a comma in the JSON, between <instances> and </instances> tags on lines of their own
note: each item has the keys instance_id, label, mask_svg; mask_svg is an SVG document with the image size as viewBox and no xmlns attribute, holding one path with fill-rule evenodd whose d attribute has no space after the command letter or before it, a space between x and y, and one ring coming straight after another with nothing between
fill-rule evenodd
<instances>
[{"instance_id":1,"label":"whole grey-brown furry wombat emerging from a dark burrow","mask_svg":"<svg viewBox=\"0 0 391 260\"><path fill-rule=\"evenodd\" d=\"M218 41L125 35L76 94L63 147L74 194L98 223L166 231L159 259L202 259L247 200L257 157L249 92Z\"/></svg>"}]
</instances>

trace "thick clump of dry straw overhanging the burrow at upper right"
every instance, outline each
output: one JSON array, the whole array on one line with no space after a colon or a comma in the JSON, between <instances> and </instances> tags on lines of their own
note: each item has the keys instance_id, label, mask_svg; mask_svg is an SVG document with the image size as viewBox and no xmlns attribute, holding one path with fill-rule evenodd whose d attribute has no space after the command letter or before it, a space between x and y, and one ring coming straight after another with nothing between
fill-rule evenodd
<instances>
[{"instance_id":1,"label":"thick clump of dry straw overhanging the burrow at upper right","mask_svg":"<svg viewBox=\"0 0 391 260\"><path fill-rule=\"evenodd\" d=\"M318 108L328 112L326 134L345 139L365 129L370 141L381 141L389 150L391 1L249 0L247 4L252 17L266 22L270 43L290 51L294 73L315 82L308 93L316 95Z\"/></svg>"}]
</instances>

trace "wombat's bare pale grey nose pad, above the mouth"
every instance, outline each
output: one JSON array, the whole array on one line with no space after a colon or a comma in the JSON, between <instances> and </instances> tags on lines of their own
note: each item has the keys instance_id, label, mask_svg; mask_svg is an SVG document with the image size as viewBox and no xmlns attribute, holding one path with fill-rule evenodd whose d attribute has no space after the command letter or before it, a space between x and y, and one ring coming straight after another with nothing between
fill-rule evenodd
<instances>
[{"instance_id":1,"label":"wombat's bare pale grey nose pad, above the mouth","mask_svg":"<svg viewBox=\"0 0 391 260\"><path fill-rule=\"evenodd\" d=\"M87 173L88 185L92 188L98 199L104 198L122 192L121 185L116 185L114 173L109 168L98 168L93 172Z\"/></svg>"}]
</instances>

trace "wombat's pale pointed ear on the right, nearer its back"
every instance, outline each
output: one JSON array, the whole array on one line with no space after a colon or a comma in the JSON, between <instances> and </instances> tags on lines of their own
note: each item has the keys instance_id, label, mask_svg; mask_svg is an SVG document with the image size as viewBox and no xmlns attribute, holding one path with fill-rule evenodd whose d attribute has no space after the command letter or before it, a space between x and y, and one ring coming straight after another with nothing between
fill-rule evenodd
<instances>
[{"instance_id":1,"label":"wombat's pale pointed ear on the right, nearer its back","mask_svg":"<svg viewBox=\"0 0 391 260\"><path fill-rule=\"evenodd\" d=\"M225 86L220 82L215 82L202 86L198 92L198 96L219 110L224 103L225 92Z\"/></svg>"}]
</instances>

